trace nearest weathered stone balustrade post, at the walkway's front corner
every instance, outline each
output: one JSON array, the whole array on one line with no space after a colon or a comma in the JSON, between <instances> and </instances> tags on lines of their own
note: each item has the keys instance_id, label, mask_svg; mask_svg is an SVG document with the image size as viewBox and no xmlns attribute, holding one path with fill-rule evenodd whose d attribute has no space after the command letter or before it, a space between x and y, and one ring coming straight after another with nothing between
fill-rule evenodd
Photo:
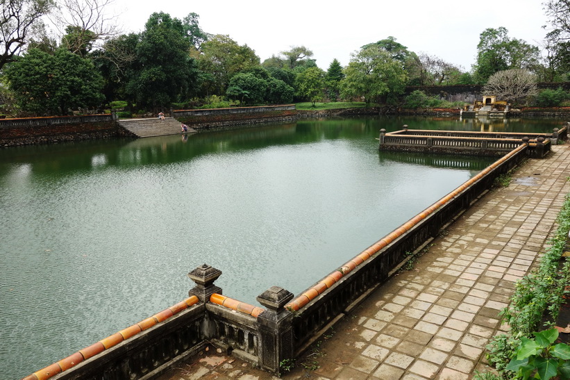
<instances>
[{"instance_id":1,"label":"nearest weathered stone balustrade post, at the walkway's front corner","mask_svg":"<svg viewBox=\"0 0 570 380\"><path fill-rule=\"evenodd\" d=\"M260 366L262 369L280 374L280 364L293 358L293 313L284 308L293 299L293 293L271 286L257 297L267 308L258 316Z\"/></svg>"}]
</instances>

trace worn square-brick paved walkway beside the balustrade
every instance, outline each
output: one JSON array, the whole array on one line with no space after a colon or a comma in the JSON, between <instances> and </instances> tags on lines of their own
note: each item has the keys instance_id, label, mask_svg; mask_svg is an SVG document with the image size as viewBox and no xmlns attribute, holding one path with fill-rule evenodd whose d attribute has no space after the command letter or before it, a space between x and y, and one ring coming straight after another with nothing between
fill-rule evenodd
<instances>
[{"instance_id":1,"label":"worn square-brick paved walkway beside the balustrade","mask_svg":"<svg viewBox=\"0 0 570 380\"><path fill-rule=\"evenodd\" d=\"M471 379L485 370L497 313L537 264L570 192L570 146L529 160L449 227L414 269L373 292L298 359L285 379ZM213 352L213 349L210 351ZM203 353L160 379L271 379L223 354Z\"/></svg>"}]
</instances>

